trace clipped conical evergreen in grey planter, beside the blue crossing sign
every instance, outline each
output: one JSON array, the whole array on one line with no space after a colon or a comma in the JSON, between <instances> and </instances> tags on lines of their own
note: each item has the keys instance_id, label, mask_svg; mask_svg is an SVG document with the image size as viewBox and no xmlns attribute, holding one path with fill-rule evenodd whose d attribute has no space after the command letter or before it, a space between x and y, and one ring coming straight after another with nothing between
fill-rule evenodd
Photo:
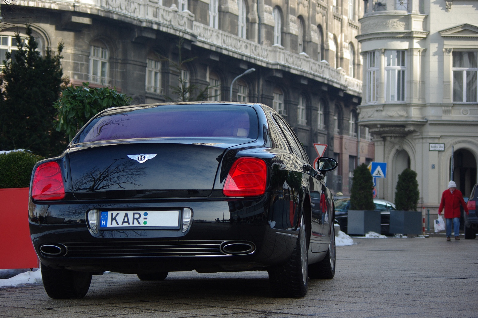
<instances>
[{"instance_id":1,"label":"clipped conical evergreen in grey planter, beside the blue crossing sign","mask_svg":"<svg viewBox=\"0 0 478 318\"><path fill-rule=\"evenodd\" d=\"M366 164L354 170L350 189L351 210L375 210L373 203L373 178Z\"/></svg>"}]
</instances>

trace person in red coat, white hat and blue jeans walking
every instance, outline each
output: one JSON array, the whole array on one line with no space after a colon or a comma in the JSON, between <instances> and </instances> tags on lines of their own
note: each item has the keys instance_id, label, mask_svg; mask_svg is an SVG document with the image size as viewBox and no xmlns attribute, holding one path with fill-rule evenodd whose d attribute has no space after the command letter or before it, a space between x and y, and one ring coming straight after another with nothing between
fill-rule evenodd
<instances>
[{"instance_id":1,"label":"person in red coat, white hat and blue jeans walking","mask_svg":"<svg viewBox=\"0 0 478 318\"><path fill-rule=\"evenodd\" d=\"M460 241L460 204L463 206L467 215L469 214L465 200L460 190L456 189L455 181L448 183L448 190L443 191L442 201L438 208L438 214L442 214L443 208L445 208L446 219L446 241L450 241L451 236L451 222L453 220L453 227L455 228L455 241Z\"/></svg>"}]
</instances>

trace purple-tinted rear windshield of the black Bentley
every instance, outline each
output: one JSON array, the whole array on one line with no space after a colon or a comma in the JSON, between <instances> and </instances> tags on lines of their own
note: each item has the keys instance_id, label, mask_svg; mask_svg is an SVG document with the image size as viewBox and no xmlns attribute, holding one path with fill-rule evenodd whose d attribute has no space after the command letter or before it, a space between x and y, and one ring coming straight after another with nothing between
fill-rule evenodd
<instances>
[{"instance_id":1,"label":"purple-tinted rear windshield of the black Bentley","mask_svg":"<svg viewBox=\"0 0 478 318\"><path fill-rule=\"evenodd\" d=\"M250 106L159 105L111 110L91 121L75 143L160 137L257 139L258 118Z\"/></svg>"}]
</instances>

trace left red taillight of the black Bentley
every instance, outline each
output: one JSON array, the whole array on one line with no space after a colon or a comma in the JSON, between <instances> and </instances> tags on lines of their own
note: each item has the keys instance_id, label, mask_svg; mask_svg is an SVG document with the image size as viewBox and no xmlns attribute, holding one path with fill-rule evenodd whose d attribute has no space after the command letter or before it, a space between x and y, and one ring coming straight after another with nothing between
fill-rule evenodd
<instances>
[{"instance_id":1,"label":"left red taillight of the black Bentley","mask_svg":"<svg viewBox=\"0 0 478 318\"><path fill-rule=\"evenodd\" d=\"M61 200L65 197L65 186L60 165L55 162L40 164L33 176L32 198L35 200Z\"/></svg>"}]
</instances>

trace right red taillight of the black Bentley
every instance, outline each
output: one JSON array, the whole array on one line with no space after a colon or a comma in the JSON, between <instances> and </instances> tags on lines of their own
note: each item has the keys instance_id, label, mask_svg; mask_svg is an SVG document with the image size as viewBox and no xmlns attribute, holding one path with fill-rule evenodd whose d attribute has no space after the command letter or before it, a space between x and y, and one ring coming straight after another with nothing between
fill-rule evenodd
<instances>
[{"instance_id":1,"label":"right red taillight of the black Bentley","mask_svg":"<svg viewBox=\"0 0 478 318\"><path fill-rule=\"evenodd\" d=\"M241 157L232 164L222 193L227 197L261 196L266 190L267 167L264 160Z\"/></svg>"}]
</instances>

